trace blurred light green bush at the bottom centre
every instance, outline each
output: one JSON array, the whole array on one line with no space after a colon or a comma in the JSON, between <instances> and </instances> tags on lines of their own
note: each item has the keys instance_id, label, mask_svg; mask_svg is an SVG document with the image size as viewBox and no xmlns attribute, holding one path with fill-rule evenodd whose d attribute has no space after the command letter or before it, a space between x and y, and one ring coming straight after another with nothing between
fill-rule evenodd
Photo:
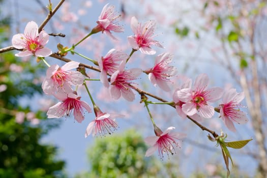
<instances>
[{"instance_id":1,"label":"blurred light green bush at the bottom centre","mask_svg":"<svg viewBox=\"0 0 267 178\"><path fill-rule=\"evenodd\" d=\"M163 177L159 160L145 158L147 147L134 130L97 138L88 149L91 171L76 177Z\"/></svg>"}]
</instances>

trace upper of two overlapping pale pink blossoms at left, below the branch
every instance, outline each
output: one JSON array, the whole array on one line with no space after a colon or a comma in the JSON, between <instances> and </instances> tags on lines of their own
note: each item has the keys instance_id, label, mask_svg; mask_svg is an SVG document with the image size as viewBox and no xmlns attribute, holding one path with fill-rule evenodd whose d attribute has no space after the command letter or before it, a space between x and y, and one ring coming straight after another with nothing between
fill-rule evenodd
<instances>
[{"instance_id":1,"label":"upper of two overlapping pale pink blossoms at left, below the branch","mask_svg":"<svg viewBox=\"0 0 267 178\"><path fill-rule=\"evenodd\" d=\"M46 71L46 78L42 83L45 94L51 95L55 92L72 92L71 84L79 85L84 81L84 76L78 71L70 71L79 67L78 62L68 62L64 66L50 66Z\"/></svg>"}]
</instances>

